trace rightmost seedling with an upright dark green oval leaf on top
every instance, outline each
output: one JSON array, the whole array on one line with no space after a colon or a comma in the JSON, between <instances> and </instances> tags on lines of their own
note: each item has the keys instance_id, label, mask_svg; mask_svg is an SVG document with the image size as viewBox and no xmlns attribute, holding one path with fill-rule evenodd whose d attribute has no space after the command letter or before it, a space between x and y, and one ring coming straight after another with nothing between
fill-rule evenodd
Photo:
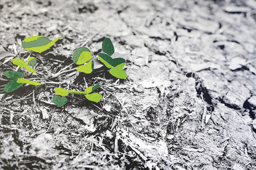
<instances>
[{"instance_id":1,"label":"rightmost seedling with an upright dark green oval leaf on top","mask_svg":"<svg viewBox=\"0 0 256 170\"><path fill-rule=\"evenodd\" d=\"M112 58L111 55L114 54L114 45L109 38L105 38L102 42L102 51L104 53L99 53L99 60L108 68L110 68L110 74L118 79L126 79L127 74L123 70L125 65L125 60L123 58Z\"/></svg>"}]
</instances>

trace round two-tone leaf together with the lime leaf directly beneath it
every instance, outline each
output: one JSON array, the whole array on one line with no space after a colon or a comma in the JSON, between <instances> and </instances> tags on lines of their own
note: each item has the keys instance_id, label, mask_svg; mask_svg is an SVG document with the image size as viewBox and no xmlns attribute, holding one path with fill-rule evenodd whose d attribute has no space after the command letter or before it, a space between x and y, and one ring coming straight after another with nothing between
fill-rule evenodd
<instances>
[{"instance_id":1,"label":"round two-tone leaf together with the lime leaf directly beneath it","mask_svg":"<svg viewBox=\"0 0 256 170\"><path fill-rule=\"evenodd\" d=\"M90 74L93 71L94 61L92 61L91 59L92 59L92 54L87 47L82 46L82 47L76 48L73 54L73 62L77 65L80 65L76 68L76 70L79 72L84 72L86 74ZM86 62L88 63L84 64ZM81 64L84 64L84 65L81 65Z\"/></svg>"}]
</instances>

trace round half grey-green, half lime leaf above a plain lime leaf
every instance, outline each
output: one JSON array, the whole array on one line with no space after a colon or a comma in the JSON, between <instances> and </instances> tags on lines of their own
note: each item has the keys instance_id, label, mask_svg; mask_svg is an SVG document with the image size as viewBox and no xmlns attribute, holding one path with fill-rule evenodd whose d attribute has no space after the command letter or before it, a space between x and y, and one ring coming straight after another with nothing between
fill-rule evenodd
<instances>
[{"instance_id":1,"label":"round half grey-green, half lime leaf above a plain lime leaf","mask_svg":"<svg viewBox=\"0 0 256 170\"><path fill-rule=\"evenodd\" d=\"M73 53L73 62L77 65L81 65L83 63L88 62L91 60L92 54L91 51L87 47L79 47L76 48L75 52Z\"/></svg>"}]
</instances>

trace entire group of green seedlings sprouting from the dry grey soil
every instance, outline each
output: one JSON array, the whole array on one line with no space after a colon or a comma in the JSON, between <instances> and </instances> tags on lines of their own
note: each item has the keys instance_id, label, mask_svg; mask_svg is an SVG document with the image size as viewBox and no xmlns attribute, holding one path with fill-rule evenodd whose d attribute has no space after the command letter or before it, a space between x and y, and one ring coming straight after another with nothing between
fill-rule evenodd
<instances>
[{"instance_id":1,"label":"entire group of green seedlings sprouting from the dry grey soil","mask_svg":"<svg viewBox=\"0 0 256 170\"><path fill-rule=\"evenodd\" d=\"M42 36L32 36L26 38L22 42L22 46L27 51L33 51L37 53L42 53L48 48L50 48L54 43L59 39L60 37L56 38L55 40L49 40L48 38L42 37ZM114 54L114 46L112 41L109 38L105 38L102 42L102 51L104 53L98 54L98 59L108 68L110 68L109 72L111 75L118 79L126 79L127 75L126 72L123 70L123 67L125 65L125 60L123 58L112 58L111 56ZM79 72L83 72L85 74L91 74L94 69L94 61L92 59L91 51L87 47L78 47L73 53L73 62L76 65L79 65L76 70ZM31 68L30 66L35 66L37 60L35 57L29 57L27 62L23 61L22 59L14 58L11 60L14 65L17 65L19 67L25 67L27 71L30 71L32 73L35 73L36 71ZM39 86L41 83L31 81L28 79L23 79L24 76L23 72L19 71L5 71L3 72L3 75L14 79L7 83L4 87L5 92L11 92L19 87L22 87L24 84L30 84L34 86ZM53 96L53 103L57 106L63 106L68 102L68 99L66 96L68 94L78 94L78 95L84 95L87 100L93 101L98 103L102 99L102 95L99 93L92 93L94 90L99 88L100 85L96 84L95 86L87 87L84 92L83 91L76 91L76 90L70 90L65 88L59 88L56 87L54 89L55 93L57 95Z\"/></svg>"}]
</instances>

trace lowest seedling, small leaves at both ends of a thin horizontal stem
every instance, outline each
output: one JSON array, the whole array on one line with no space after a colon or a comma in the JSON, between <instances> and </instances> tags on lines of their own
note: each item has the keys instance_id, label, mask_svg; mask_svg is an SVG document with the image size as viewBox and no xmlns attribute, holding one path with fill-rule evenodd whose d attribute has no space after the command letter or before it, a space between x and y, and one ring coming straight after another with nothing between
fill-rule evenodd
<instances>
[{"instance_id":1,"label":"lowest seedling, small leaves at both ends of a thin horizontal stem","mask_svg":"<svg viewBox=\"0 0 256 170\"><path fill-rule=\"evenodd\" d=\"M86 96L87 100L98 103L101 100L102 95L99 93L89 94L92 91L96 90L97 88L99 88L99 84L86 88L86 90L84 90L84 92L76 91L76 90L68 91L67 89L63 89L63 88L55 88L54 91L58 95L54 95L52 100L55 105L60 106L60 107L64 106L68 102L68 99L65 96L70 93L70 94L84 95L84 96ZM61 95L62 98L59 95Z\"/></svg>"}]
</instances>

